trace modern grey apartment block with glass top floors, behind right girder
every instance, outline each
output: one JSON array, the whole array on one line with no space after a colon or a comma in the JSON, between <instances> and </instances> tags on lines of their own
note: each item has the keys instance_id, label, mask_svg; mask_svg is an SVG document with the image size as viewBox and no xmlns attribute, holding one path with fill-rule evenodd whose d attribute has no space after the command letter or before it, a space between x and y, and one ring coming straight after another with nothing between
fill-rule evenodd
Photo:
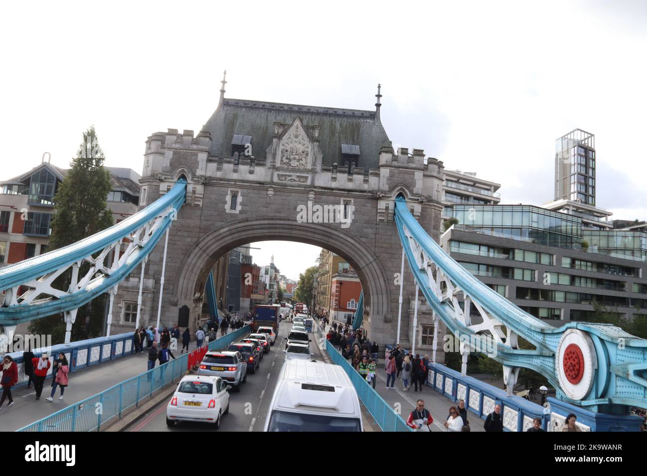
<instances>
[{"instance_id":1,"label":"modern grey apartment block with glass top floors, behind right girder","mask_svg":"<svg viewBox=\"0 0 647 476\"><path fill-rule=\"evenodd\" d=\"M460 205L441 246L535 317L562 325L604 306L647 312L647 233L587 229L581 218L528 205ZM472 310L474 311L474 310Z\"/></svg>"}]
</instances>

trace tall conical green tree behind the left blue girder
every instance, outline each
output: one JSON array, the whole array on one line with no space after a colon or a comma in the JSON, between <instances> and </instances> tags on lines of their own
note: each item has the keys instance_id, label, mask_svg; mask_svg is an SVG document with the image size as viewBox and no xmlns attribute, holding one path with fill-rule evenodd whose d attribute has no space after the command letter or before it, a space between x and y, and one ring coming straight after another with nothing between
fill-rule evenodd
<instances>
[{"instance_id":1,"label":"tall conical green tree behind the left blue girder","mask_svg":"<svg viewBox=\"0 0 647 476\"><path fill-rule=\"evenodd\" d=\"M50 250L78 242L113 225L113 214L106 207L111 182L104 161L104 153L92 126L83 133L83 142L76 157L72 159L67 175L56 190ZM79 276L88 270L89 264L83 263ZM68 271L54 282L54 286L67 289L70 282L71 271ZM72 341L102 334L105 302L104 294L79 308L72 326ZM52 334L52 343L61 343L65 338L65 322L61 315L45 317L33 321L29 332Z\"/></svg>"}]
</instances>

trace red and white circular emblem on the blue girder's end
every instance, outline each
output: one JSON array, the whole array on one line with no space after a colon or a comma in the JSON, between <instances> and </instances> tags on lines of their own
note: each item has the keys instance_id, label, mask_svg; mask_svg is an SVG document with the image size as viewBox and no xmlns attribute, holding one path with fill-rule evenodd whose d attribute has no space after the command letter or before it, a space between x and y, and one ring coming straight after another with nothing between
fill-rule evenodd
<instances>
[{"instance_id":1,"label":"red and white circular emblem on the blue girder's end","mask_svg":"<svg viewBox=\"0 0 647 476\"><path fill-rule=\"evenodd\" d=\"M573 400L582 400L591 391L597 356L591 337L578 329L564 332L557 347L555 368L562 391Z\"/></svg>"}]
</instances>

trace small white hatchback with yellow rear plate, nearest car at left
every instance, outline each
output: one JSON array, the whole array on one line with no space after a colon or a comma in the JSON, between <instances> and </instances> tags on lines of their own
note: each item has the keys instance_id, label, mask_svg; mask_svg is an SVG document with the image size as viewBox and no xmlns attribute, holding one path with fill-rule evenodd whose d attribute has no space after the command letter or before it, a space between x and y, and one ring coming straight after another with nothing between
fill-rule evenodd
<instances>
[{"instance_id":1,"label":"small white hatchback with yellow rear plate, nearest car at left","mask_svg":"<svg viewBox=\"0 0 647 476\"><path fill-rule=\"evenodd\" d=\"M188 375L177 385L166 405L166 425L175 422L205 422L220 427L220 418L229 413L229 392L222 378Z\"/></svg>"}]
</instances>

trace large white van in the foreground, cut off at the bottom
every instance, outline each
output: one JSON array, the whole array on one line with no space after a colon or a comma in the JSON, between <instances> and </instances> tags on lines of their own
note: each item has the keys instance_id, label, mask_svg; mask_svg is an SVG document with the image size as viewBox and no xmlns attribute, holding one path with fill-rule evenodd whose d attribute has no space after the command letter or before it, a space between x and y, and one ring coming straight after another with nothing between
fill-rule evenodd
<instances>
[{"instance_id":1,"label":"large white van in the foreground, cut off at the bottom","mask_svg":"<svg viewBox=\"0 0 647 476\"><path fill-rule=\"evenodd\" d=\"M351 379L339 365L286 360L264 431L364 431Z\"/></svg>"}]
</instances>

